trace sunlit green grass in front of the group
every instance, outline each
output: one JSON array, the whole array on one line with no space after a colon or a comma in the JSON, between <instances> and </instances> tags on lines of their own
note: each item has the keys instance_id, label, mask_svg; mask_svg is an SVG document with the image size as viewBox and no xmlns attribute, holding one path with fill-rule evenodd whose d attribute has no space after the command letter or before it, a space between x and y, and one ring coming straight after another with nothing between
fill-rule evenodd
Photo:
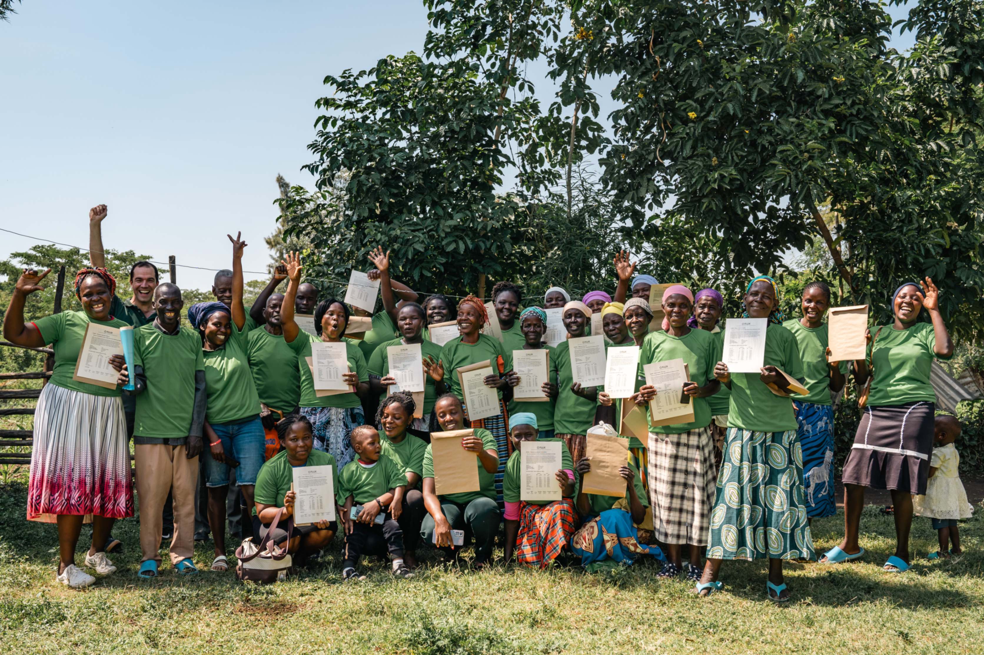
<instances>
[{"instance_id":1,"label":"sunlit green grass in front of the group","mask_svg":"<svg viewBox=\"0 0 984 655\"><path fill-rule=\"evenodd\" d=\"M138 581L137 521L114 534L120 570L83 591L54 580L54 527L24 518L23 482L0 485L0 641L18 653L980 653L984 650L982 522L961 525L963 559L916 559L905 574L880 565L892 552L892 519L865 510L862 563L787 566L793 599L772 605L766 563L725 563L709 599L664 582L656 566L587 575L493 567L473 572L425 554L417 578L396 580L379 562L342 583L336 553L286 582L261 587L231 571L192 578L162 567ZM978 509L980 511L980 509ZM815 523L815 541L839 540L842 517ZM89 530L81 549L88 547ZM913 547L935 550L928 519ZM470 552L466 551L466 557ZM81 563L80 556L79 562ZM196 564L212 561L211 544ZM166 561L166 559L165 559Z\"/></svg>"}]
</instances>

